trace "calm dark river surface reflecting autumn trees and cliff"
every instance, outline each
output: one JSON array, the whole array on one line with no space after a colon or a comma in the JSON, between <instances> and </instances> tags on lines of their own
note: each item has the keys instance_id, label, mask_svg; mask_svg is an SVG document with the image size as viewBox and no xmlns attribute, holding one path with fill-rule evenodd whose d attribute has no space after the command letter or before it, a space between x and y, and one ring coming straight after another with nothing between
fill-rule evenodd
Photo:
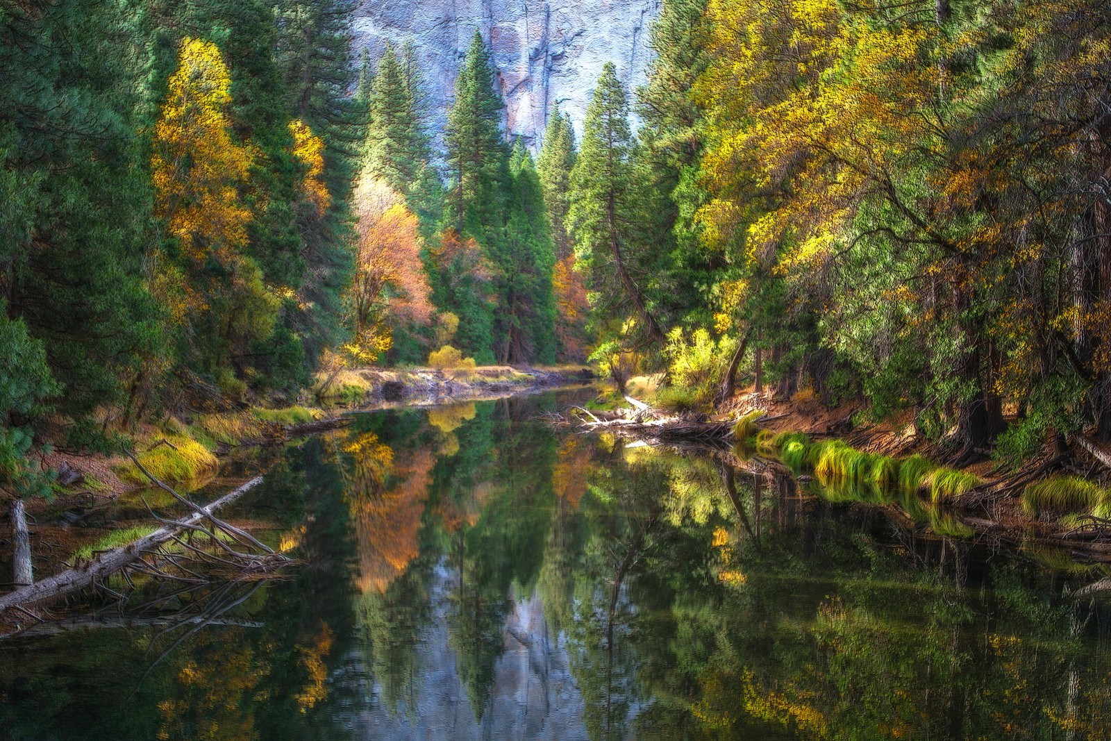
<instances>
[{"instance_id":1,"label":"calm dark river surface reflecting autumn trees and cliff","mask_svg":"<svg viewBox=\"0 0 1111 741\"><path fill-rule=\"evenodd\" d=\"M1099 572L536 421L583 393L260 453L304 565L0 643L0 739L1111 737Z\"/></svg>"}]
</instances>

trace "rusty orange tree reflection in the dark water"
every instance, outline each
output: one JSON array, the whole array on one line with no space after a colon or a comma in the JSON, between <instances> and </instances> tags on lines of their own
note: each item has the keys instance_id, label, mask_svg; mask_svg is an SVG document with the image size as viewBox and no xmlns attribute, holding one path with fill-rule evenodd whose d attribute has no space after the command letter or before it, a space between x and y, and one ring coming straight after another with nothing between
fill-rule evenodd
<instances>
[{"instance_id":1,"label":"rusty orange tree reflection in the dark water","mask_svg":"<svg viewBox=\"0 0 1111 741\"><path fill-rule=\"evenodd\" d=\"M398 479L393 487L352 501L363 593L384 592L420 553L417 533L434 463L428 450L406 453L393 462L391 477Z\"/></svg>"}]
</instances>

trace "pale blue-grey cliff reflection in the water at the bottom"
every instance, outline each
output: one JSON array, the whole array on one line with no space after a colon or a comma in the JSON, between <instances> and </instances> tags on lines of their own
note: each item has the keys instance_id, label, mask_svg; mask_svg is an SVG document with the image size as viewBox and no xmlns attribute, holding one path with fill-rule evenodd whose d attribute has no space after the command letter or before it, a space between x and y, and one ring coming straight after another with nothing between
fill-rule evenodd
<instances>
[{"instance_id":1,"label":"pale blue-grey cliff reflection in the water at the bottom","mask_svg":"<svg viewBox=\"0 0 1111 741\"><path fill-rule=\"evenodd\" d=\"M493 670L490 705L481 725L474 719L467 688L456 671L456 654L448 640L449 594L456 572L444 563L433 571L430 589L431 624L417 649L419 674L409 688L410 699L397 708L382 705L379 688L370 703L348 722L356 739L392 741L421 739L587 739L582 695L568 665L562 634L549 639L540 599L516 600L502 628L504 652ZM349 665L350 669L350 665ZM338 681L359 682L361 677ZM352 672L353 673L353 672ZM411 707L407 707L410 704Z\"/></svg>"}]
</instances>

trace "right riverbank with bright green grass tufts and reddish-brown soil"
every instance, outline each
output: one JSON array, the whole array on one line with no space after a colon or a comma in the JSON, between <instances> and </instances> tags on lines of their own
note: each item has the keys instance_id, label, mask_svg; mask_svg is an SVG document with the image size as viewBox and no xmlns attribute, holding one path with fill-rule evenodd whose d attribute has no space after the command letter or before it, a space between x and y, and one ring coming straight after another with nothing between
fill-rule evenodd
<instances>
[{"instance_id":1,"label":"right riverbank with bright green grass tufts and reddish-brown soil","mask_svg":"<svg viewBox=\"0 0 1111 741\"><path fill-rule=\"evenodd\" d=\"M645 379L634 379L630 390L649 402L667 400ZM868 423L860 411L855 404L827 409L808 394L781 399L749 390L714 414L685 415L672 431L720 433L731 422L724 442L732 449L711 445L714 454L748 468L753 459L764 461L770 474L790 478L800 495L885 508L939 535L991 535L1017 545L1038 540L1080 559L1111 561L1111 487L1101 460L1111 451L1085 439L1064 452L1047 445L1017 467L988 450L973 451L970 461L967 452L921 435L910 415ZM625 433L661 439L643 424Z\"/></svg>"}]
</instances>

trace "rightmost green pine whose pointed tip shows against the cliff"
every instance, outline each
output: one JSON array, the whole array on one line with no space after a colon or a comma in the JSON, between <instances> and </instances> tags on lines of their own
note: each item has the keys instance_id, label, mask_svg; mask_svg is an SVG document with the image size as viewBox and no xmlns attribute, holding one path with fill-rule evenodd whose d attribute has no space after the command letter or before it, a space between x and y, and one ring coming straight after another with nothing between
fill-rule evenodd
<instances>
[{"instance_id":1,"label":"rightmost green pine whose pointed tip shows against the cliff","mask_svg":"<svg viewBox=\"0 0 1111 741\"><path fill-rule=\"evenodd\" d=\"M638 264L643 246L635 243L637 224L644 213L638 212L635 179L641 172L630 162L632 152L629 101L617 68L608 62L587 109L582 148L571 172L571 233L595 311L619 320L628 301L640 331L662 349L663 330L649 306Z\"/></svg>"}]
</instances>

